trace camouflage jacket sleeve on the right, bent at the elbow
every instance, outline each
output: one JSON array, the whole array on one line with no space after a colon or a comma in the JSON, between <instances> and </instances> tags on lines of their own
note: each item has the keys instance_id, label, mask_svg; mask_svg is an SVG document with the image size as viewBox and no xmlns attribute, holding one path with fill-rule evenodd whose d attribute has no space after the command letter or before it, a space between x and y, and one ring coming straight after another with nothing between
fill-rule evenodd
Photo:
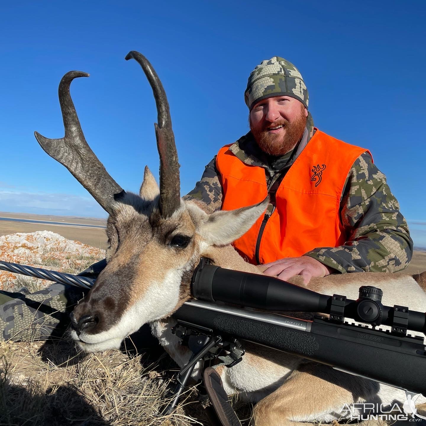
<instances>
[{"instance_id":1,"label":"camouflage jacket sleeve on the right, bent at the elbow","mask_svg":"<svg viewBox=\"0 0 426 426\"><path fill-rule=\"evenodd\" d=\"M413 254L408 225L386 176L363 153L354 162L343 190L340 217L350 237L340 247L322 247L306 255L345 272L396 272Z\"/></svg>"}]
</instances>

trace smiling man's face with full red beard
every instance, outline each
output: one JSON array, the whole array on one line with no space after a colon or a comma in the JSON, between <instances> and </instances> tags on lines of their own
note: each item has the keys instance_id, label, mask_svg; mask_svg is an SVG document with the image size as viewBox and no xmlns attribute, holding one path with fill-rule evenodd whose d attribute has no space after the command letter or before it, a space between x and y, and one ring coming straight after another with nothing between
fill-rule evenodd
<instances>
[{"instance_id":1,"label":"smiling man's face with full red beard","mask_svg":"<svg viewBox=\"0 0 426 426\"><path fill-rule=\"evenodd\" d=\"M284 155L300 141L308 110L290 96L259 101L250 111L250 130L260 149L270 155Z\"/></svg>"}]
</instances>

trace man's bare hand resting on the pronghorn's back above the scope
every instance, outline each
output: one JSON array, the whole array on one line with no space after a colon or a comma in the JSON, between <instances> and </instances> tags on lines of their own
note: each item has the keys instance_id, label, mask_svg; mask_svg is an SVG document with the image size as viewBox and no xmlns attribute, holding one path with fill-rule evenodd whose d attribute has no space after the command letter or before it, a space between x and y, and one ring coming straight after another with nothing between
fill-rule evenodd
<instances>
[{"instance_id":1,"label":"man's bare hand resting on the pronghorn's back above the scope","mask_svg":"<svg viewBox=\"0 0 426 426\"><path fill-rule=\"evenodd\" d=\"M286 257L275 262L265 263L265 266L268 268L263 273L276 276L284 281L292 276L301 275L304 285L308 285L312 277L330 275L333 271L332 268L328 268L311 256Z\"/></svg>"}]
</instances>

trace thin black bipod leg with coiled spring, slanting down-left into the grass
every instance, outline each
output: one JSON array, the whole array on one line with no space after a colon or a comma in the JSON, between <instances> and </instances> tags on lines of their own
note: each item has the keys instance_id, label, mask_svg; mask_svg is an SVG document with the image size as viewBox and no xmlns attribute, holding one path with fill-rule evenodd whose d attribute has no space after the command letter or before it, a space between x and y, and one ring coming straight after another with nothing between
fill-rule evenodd
<instances>
[{"instance_id":1,"label":"thin black bipod leg with coiled spring, slanting down-left into the grass","mask_svg":"<svg viewBox=\"0 0 426 426\"><path fill-rule=\"evenodd\" d=\"M191 336L189 342L189 348L194 352L193 356L190 358L188 363L181 368L177 377L177 385L173 391L173 400L161 410L161 415L166 416L172 414L179 403L180 396L184 391L188 379L191 377L191 374L199 361L204 360L204 356L210 351L211 348L214 348L220 341L222 337L208 337L205 335ZM195 349L195 350L194 350Z\"/></svg>"}]
</instances>

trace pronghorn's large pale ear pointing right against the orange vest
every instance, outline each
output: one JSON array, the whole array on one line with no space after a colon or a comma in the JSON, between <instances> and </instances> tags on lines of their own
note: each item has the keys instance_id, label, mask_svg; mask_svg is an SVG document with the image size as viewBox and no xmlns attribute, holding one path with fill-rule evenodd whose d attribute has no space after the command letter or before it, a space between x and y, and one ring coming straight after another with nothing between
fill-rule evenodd
<instances>
[{"instance_id":1,"label":"pronghorn's large pale ear pointing right against the orange vest","mask_svg":"<svg viewBox=\"0 0 426 426\"><path fill-rule=\"evenodd\" d=\"M259 204L236 210L219 210L208 216L199 231L209 245L227 245L244 235L265 211L269 196Z\"/></svg>"}]
</instances>

